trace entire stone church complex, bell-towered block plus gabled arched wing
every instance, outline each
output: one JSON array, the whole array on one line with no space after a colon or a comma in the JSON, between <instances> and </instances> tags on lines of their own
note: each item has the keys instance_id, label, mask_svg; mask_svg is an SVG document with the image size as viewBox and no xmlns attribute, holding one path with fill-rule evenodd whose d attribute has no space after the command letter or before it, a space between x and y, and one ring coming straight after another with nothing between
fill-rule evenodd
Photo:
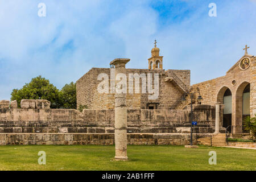
<instances>
[{"instance_id":1,"label":"entire stone church complex, bell-towered block plus gabled arched wing","mask_svg":"<svg viewBox=\"0 0 256 182\"><path fill-rule=\"evenodd\" d=\"M148 69L126 69L127 82L129 73L146 75L159 74L159 96L150 100L150 93L142 92L143 80L141 79L139 93L127 92L127 107L130 109L158 109L158 110L182 110L191 105L189 93L193 94L192 104L222 106L221 125L229 131L242 131L242 119L247 115L256 114L256 57L249 55L245 47L243 55L236 64L230 68L225 76L214 78L191 85L191 72L189 70L163 69L164 59L159 55L160 49L151 50L148 59ZM114 109L114 93L99 93L98 75L106 73L111 77L111 68L92 68L79 80L77 80L77 107L86 105L88 109ZM152 78L154 80L154 78ZM154 87L154 81L152 81ZM109 85L110 85L109 81ZM146 84L148 82L146 81ZM135 86L133 86L135 87ZM201 96L203 100L197 101ZM185 102L184 101L185 99Z\"/></svg>"}]
</instances>

